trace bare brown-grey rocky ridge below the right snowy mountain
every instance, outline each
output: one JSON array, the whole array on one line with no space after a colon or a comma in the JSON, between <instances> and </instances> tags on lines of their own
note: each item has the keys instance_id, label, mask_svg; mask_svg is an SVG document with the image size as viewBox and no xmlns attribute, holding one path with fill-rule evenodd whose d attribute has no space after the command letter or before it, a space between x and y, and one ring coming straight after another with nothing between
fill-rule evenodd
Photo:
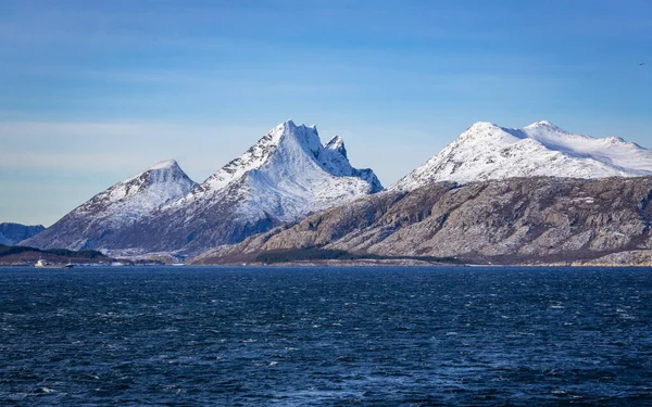
<instances>
[{"instance_id":1,"label":"bare brown-grey rocky ridge below the right snowy mountain","mask_svg":"<svg viewBox=\"0 0 652 407\"><path fill-rule=\"evenodd\" d=\"M652 177L515 178L386 191L309 216L198 262L323 247L467 263L632 264L652 253ZM631 253L631 254L625 254ZM616 254L619 254L616 256Z\"/></svg>"}]
</instances>

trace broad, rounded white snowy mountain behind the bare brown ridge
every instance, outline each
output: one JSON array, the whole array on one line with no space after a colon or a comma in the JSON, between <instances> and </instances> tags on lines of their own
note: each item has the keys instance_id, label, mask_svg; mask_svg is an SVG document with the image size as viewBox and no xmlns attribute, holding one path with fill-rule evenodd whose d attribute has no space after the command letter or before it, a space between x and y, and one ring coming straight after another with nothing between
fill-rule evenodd
<instances>
[{"instance_id":1,"label":"broad, rounded white snowy mountain behind the bare brown ridge","mask_svg":"<svg viewBox=\"0 0 652 407\"><path fill-rule=\"evenodd\" d=\"M574 135L549 122L521 129L480 122L389 189L410 191L437 181L465 183L512 177L647 175L652 175L652 150L620 138Z\"/></svg>"}]
</instances>

